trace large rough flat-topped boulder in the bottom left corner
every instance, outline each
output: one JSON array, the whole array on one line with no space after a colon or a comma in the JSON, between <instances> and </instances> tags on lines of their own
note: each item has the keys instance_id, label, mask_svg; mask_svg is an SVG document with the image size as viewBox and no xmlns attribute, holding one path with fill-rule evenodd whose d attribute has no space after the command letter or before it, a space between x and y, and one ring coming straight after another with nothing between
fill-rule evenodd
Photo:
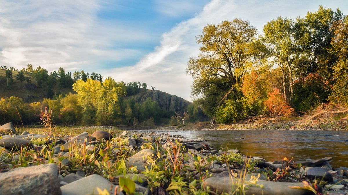
<instances>
[{"instance_id":1,"label":"large rough flat-topped boulder in the bottom left corner","mask_svg":"<svg viewBox=\"0 0 348 195\"><path fill-rule=\"evenodd\" d=\"M32 167L20 167L0 173L1 194L60 195L58 168L55 164L40 164Z\"/></svg>"}]
</instances>

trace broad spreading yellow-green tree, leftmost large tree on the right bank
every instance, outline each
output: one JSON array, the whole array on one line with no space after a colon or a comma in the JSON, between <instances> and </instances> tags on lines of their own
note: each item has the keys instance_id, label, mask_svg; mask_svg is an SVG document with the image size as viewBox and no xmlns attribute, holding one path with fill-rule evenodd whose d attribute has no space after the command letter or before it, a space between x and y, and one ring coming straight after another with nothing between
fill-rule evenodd
<instances>
[{"instance_id":1,"label":"broad spreading yellow-green tree, leftmost large tree on the right bank","mask_svg":"<svg viewBox=\"0 0 348 195\"><path fill-rule=\"evenodd\" d=\"M239 99L238 89L247 69L267 54L264 45L255 39L257 33L248 21L238 18L205 26L203 35L196 37L197 43L203 44L201 52L198 57L189 58L186 68L194 79L192 95L219 96L215 107L220 107L231 93ZM216 94L212 88L221 91Z\"/></svg>"}]
</instances>

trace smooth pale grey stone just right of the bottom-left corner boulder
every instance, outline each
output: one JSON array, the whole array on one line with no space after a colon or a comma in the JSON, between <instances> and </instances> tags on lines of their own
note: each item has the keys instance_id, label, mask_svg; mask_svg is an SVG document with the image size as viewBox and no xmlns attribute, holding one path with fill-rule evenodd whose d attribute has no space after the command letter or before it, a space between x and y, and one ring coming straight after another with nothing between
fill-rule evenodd
<instances>
[{"instance_id":1,"label":"smooth pale grey stone just right of the bottom-left corner boulder","mask_svg":"<svg viewBox=\"0 0 348 195\"><path fill-rule=\"evenodd\" d=\"M62 186L61 190L62 195L93 195L98 194L97 187L113 194L116 186L100 175L90 175Z\"/></svg>"}]
</instances>

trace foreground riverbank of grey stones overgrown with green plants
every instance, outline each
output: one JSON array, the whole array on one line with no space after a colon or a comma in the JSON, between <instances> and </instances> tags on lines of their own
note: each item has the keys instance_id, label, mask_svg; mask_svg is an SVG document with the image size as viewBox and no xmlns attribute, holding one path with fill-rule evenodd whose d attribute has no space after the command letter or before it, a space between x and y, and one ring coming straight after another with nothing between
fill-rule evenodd
<instances>
[{"instance_id":1,"label":"foreground riverbank of grey stones overgrown with green plants","mask_svg":"<svg viewBox=\"0 0 348 195\"><path fill-rule=\"evenodd\" d=\"M0 139L1 194L348 194L348 169L331 168L331 157L269 162L156 131L0 129L9 133Z\"/></svg>"}]
</instances>

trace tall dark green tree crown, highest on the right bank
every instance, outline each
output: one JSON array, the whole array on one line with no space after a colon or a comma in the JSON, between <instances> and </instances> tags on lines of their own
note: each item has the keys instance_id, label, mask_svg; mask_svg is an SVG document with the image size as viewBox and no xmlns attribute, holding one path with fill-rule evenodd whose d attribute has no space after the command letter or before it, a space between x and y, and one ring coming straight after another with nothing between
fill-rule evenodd
<instances>
[{"instance_id":1,"label":"tall dark green tree crown, highest on the right bank","mask_svg":"<svg viewBox=\"0 0 348 195\"><path fill-rule=\"evenodd\" d=\"M296 40L299 42L302 53L309 53L310 59L306 66L296 68L303 69L302 72L307 76L309 73L318 73L325 79L333 76L332 66L337 61L337 56L332 54L332 39L335 21L343 20L346 16L337 9L319 6L316 12L307 12L306 17L296 18ZM300 64L301 65L301 64Z\"/></svg>"}]
</instances>

